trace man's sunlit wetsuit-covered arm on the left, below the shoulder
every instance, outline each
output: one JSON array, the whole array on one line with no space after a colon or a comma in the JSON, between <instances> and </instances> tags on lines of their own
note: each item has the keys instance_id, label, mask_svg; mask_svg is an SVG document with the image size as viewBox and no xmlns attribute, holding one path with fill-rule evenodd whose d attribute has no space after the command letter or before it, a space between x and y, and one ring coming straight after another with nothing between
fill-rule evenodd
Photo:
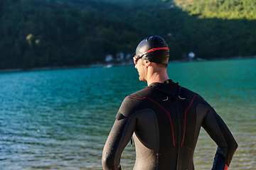
<instances>
[{"instance_id":1,"label":"man's sunlit wetsuit-covered arm on the left, below the shoulder","mask_svg":"<svg viewBox=\"0 0 256 170\"><path fill-rule=\"evenodd\" d=\"M117 113L102 153L102 167L104 170L121 169L120 158L124 148L132 138L135 126L136 118L127 118L122 113Z\"/></svg>"}]
</instances>

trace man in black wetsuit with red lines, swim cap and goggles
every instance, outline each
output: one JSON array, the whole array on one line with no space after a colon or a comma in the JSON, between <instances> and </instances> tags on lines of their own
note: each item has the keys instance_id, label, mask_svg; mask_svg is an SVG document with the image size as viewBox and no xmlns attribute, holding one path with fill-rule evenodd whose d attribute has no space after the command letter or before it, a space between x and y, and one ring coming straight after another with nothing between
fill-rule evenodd
<instances>
[{"instance_id":1,"label":"man in black wetsuit with red lines, swim cap and goggles","mask_svg":"<svg viewBox=\"0 0 256 170\"><path fill-rule=\"evenodd\" d=\"M178 86L166 72L169 48L159 36L139 43L134 57L141 91L127 96L102 153L103 169L121 169L120 157L133 135L134 169L194 169L201 126L218 145L213 169L228 169L238 144L214 109L198 94Z\"/></svg>"}]
</instances>

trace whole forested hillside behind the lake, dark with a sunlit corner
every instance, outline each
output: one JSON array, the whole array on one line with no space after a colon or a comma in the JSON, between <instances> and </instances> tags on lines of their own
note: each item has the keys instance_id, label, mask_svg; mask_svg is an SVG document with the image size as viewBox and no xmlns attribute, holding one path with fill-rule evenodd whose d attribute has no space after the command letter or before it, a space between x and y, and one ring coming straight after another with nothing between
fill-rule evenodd
<instances>
[{"instance_id":1,"label":"whole forested hillside behind the lake, dark with a sunlit corner","mask_svg":"<svg viewBox=\"0 0 256 170\"><path fill-rule=\"evenodd\" d=\"M0 69L63 67L134 55L160 35L170 60L256 55L254 0L0 0Z\"/></svg>"}]
</instances>

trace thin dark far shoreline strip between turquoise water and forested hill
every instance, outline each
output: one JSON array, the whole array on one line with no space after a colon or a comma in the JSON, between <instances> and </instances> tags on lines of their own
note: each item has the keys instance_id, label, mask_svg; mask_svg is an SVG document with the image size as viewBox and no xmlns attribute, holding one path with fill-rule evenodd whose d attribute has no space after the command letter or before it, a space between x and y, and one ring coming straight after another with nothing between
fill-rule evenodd
<instances>
[{"instance_id":1,"label":"thin dark far shoreline strip between turquoise water and forested hill","mask_svg":"<svg viewBox=\"0 0 256 170\"><path fill-rule=\"evenodd\" d=\"M210 61L222 61L222 60L247 60L247 59L256 59L255 56L238 56L238 57L227 57L227 58L213 58L210 60L197 58L193 60L184 59L184 60L172 60L169 61L170 63L177 63L177 62L210 62ZM133 62L122 62L122 63L99 63L99 64L90 64L90 65L78 65L78 66L63 66L63 67L36 67L31 69L0 69L1 73L11 73L11 72L31 72L31 71L45 71L45 70L55 70L55 69L80 69L80 68L95 68L95 67L116 67L116 66L125 66L125 65L132 65Z\"/></svg>"}]
</instances>

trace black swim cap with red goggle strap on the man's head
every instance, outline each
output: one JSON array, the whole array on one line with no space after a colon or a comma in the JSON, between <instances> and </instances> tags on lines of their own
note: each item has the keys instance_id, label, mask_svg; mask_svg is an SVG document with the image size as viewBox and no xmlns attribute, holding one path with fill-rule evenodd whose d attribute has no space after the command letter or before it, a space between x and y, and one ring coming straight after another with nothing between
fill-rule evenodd
<instances>
[{"instance_id":1,"label":"black swim cap with red goggle strap on the man's head","mask_svg":"<svg viewBox=\"0 0 256 170\"><path fill-rule=\"evenodd\" d=\"M169 48L166 41L159 36L145 38L136 48L136 57L142 60L167 64L169 60Z\"/></svg>"}]
</instances>

